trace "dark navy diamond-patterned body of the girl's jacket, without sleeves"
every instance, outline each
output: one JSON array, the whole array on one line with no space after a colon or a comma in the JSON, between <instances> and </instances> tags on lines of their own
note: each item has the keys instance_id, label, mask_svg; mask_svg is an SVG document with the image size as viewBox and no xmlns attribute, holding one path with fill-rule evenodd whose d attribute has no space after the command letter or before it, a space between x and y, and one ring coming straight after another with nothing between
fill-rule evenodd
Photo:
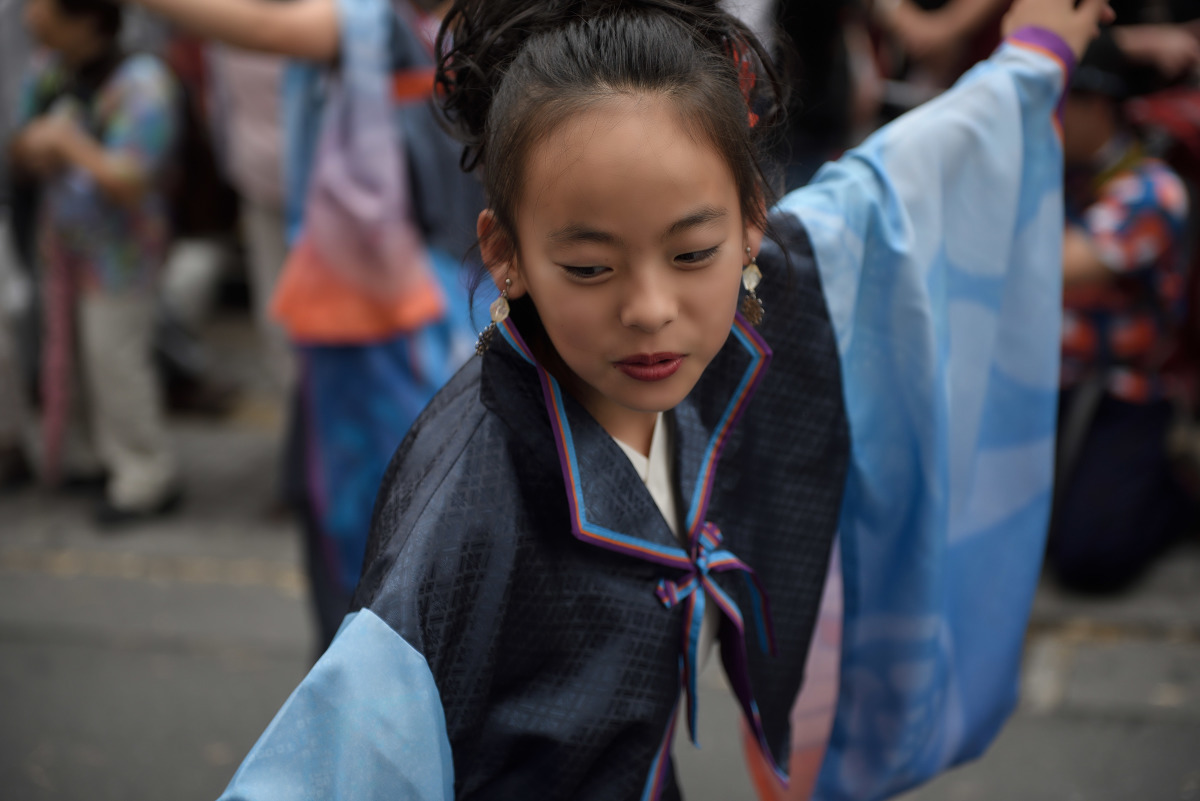
<instances>
[{"instance_id":1,"label":"dark navy diamond-patterned body of the girl's jacket, without sleeves","mask_svg":"<svg viewBox=\"0 0 1200 801\"><path fill-rule=\"evenodd\" d=\"M787 763L845 481L838 356L806 236L766 247L761 330L774 361L716 465L708 519L769 594L780 655L748 626L768 741ZM733 338L673 415L680 508L750 361ZM588 518L676 546L617 445L570 397ZM460 799L638 799L678 698L682 572L574 538L535 368L502 338L433 401L384 478L356 608L421 652L437 682ZM718 579L745 614L737 576ZM703 715L704 710L700 710ZM678 797L668 776L660 797Z\"/></svg>"}]
</instances>

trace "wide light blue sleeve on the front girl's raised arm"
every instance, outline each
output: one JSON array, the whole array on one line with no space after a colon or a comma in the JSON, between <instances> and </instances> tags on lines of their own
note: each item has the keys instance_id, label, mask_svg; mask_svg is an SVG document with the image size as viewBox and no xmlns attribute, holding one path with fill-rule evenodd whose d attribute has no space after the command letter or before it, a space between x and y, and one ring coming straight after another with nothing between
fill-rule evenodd
<instances>
[{"instance_id":1,"label":"wide light blue sleeve on the front girl's raised arm","mask_svg":"<svg viewBox=\"0 0 1200 801\"><path fill-rule=\"evenodd\" d=\"M781 203L812 241L852 438L818 799L978 755L1015 704L1051 501L1073 61L1024 30Z\"/></svg>"}]
</instances>

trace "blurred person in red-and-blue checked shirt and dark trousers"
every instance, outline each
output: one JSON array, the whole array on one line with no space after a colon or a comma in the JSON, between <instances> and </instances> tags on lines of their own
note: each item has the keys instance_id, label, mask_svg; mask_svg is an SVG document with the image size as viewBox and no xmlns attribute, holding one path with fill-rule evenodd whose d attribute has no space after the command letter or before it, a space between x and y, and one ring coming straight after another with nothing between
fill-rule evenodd
<instances>
[{"instance_id":1,"label":"blurred person in red-and-blue checked shirt and dark trousers","mask_svg":"<svg viewBox=\"0 0 1200 801\"><path fill-rule=\"evenodd\" d=\"M1127 586L1193 516L1168 456L1175 404L1163 374L1184 313L1189 193L1123 114L1153 80L1104 38L1064 106L1063 391L1048 566L1084 591Z\"/></svg>"}]
</instances>

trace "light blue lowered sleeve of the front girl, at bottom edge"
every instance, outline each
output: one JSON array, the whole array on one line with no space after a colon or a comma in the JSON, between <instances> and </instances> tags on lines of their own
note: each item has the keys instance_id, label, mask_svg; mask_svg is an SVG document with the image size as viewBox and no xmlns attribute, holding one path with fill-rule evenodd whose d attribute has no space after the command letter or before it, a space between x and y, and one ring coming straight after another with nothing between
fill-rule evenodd
<instances>
[{"instance_id":1,"label":"light blue lowered sleeve of the front girl, at bottom edge","mask_svg":"<svg viewBox=\"0 0 1200 801\"><path fill-rule=\"evenodd\" d=\"M425 658L370 610L347 618L221 801L450 801L454 767Z\"/></svg>"}]
</instances>

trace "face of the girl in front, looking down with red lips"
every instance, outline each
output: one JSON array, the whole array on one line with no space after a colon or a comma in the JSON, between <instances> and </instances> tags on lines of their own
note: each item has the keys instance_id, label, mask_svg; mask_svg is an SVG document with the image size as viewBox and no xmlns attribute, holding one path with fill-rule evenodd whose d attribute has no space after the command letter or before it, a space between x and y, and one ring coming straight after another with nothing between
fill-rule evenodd
<instances>
[{"instance_id":1,"label":"face of the girl in front, looking down with red lips","mask_svg":"<svg viewBox=\"0 0 1200 801\"><path fill-rule=\"evenodd\" d=\"M613 100L530 151L516 224L515 257L487 258L493 278L532 297L568 391L610 434L648 447L654 416L728 338L746 248L762 242L728 164L668 101Z\"/></svg>"}]
</instances>

